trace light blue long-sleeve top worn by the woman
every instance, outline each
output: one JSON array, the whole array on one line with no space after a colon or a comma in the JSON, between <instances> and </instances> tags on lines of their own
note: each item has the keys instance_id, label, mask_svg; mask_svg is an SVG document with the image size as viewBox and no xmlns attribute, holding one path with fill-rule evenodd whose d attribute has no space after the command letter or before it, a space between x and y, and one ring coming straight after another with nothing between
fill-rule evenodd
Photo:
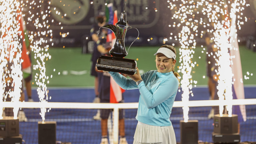
<instances>
[{"instance_id":1,"label":"light blue long-sleeve top worn by the woman","mask_svg":"<svg viewBox=\"0 0 256 144\"><path fill-rule=\"evenodd\" d=\"M179 85L173 72L148 71L141 75L143 81L138 86L132 79L127 79L119 73L109 73L121 88L139 88L140 98L136 115L139 122L154 126L172 125L169 118Z\"/></svg>"}]
</instances>

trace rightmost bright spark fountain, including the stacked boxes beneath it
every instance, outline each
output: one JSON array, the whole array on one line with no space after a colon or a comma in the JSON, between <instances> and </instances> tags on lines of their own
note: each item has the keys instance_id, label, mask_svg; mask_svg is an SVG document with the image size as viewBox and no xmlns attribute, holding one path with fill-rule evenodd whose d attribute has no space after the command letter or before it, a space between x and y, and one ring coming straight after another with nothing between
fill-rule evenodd
<instances>
[{"instance_id":1,"label":"rightmost bright spark fountain, including the stacked boxes beneath it","mask_svg":"<svg viewBox=\"0 0 256 144\"><path fill-rule=\"evenodd\" d=\"M244 1L235 0L233 3L231 3L230 13L228 12L228 9L227 9L228 4L226 3L223 3L223 4L224 4L224 8L226 8L223 13L225 15L225 19L222 21L218 21L217 23L214 24L214 28L216 30L214 32L214 36L215 36L216 47L219 49L217 53L217 55L219 56L219 59L217 60L217 66L218 66L217 94L219 96L220 101L223 101L224 99L226 99L227 101L226 109L228 111L228 115L226 114L223 115L224 103L220 102L220 106L219 106L220 114L214 116L215 126L214 126L214 132L212 133L212 138L214 143L230 143L234 141L240 142L238 115L234 115L234 114L232 115L232 103L231 103L231 100L233 99L232 84L234 84L234 80L233 80L234 72L232 72L232 65L233 65L232 59L235 58L235 55L232 55L232 51L238 50L236 25L235 25L236 12L239 12L244 9L243 7L241 8L239 5L240 4L242 6L245 5L245 0ZM237 8L237 6L239 7ZM230 16L231 20L229 20L228 16ZM240 28L239 21L238 21L238 27ZM236 43L235 43L235 40L236 40ZM240 57L237 57L236 59L238 58ZM236 69L236 71L237 70L239 71L239 69ZM243 90L242 92L239 92L239 93L240 94L243 93ZM228 121L228 125L227 123L225 123L225 121L223 121L223 119ZM224 123L225 127L228 127L228 128L224 128L223 124L221 123ZM219 138L218 137L219 134L222 134L223 136Z\"/></svg>"}]
</instances>

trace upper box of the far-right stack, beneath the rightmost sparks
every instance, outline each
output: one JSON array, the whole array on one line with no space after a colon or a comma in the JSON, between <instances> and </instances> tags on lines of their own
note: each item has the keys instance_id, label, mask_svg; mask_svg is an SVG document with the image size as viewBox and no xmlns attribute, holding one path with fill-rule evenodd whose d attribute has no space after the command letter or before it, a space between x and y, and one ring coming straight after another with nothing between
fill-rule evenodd
<instances>
[{"instance_id":1,"label":"upper box of the far-right stack, beneath the rightmost sparks","mask_svg":"<svg viewBox=\"0 0 256 144\"><path fill-rule=\"evenodd\" d=\"M232 134L238 132L238 117L233 114L229 117L227 114L220 116L219 114L214 115L214 133L219 134Z\"/></svg>"}]
</instances>

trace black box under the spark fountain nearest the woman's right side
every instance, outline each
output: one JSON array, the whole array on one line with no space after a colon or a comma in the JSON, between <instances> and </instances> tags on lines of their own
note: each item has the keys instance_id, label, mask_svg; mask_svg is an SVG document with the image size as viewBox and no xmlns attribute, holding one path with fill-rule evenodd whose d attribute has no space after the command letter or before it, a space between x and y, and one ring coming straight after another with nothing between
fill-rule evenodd
<instances>
[{"instance_id":1,"label":"black box under the spark fountain nearest the woman's right side","mask_svg":"<svg viewBox=\"0 0 256 144\"><path fill-rule=\"evenodd\" d=\"M198 120L180 121L180 143L198 144Z\"/></svg>"}]
</instances>

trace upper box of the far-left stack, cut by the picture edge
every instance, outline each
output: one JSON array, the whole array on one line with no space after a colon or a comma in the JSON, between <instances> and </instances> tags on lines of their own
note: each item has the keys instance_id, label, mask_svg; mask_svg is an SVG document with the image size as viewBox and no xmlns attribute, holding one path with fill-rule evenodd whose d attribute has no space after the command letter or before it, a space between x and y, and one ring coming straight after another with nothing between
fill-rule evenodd
<instances>
[{"instance_id":1,"label":"upper box of the far-left stack, cut by the picture edge","mask_svg":"<svg viewBox=\"0 0 256 144\"><path fill-rule=\"evenodd\" d=\"M0 119L0 136L19 136L19 120L13 119L13 116L5 116Z\"/></svg>"}]
</instances>

